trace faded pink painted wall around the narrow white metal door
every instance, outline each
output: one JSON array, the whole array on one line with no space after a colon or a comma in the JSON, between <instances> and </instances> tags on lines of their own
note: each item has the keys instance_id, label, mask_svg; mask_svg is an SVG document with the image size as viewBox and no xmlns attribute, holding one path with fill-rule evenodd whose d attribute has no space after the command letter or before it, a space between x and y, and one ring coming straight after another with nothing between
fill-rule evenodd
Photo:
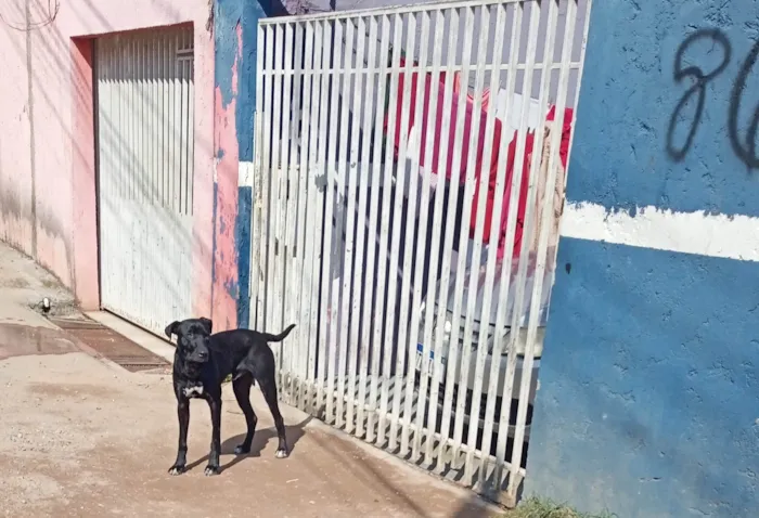
<instances>
[{"instance_id":1,"label":"faded pink painted wall around the narrow white metal door","mask_svg":"<svg viewBox=\"0 0 759 518\"><path fill-rule=\"evenodd\" d=\"M49 5L55 3L59 11L50 13ZM191 23L195 29L193 307L196 314L211 314L215 125L209 10L208 0L0 2L4 21L0 22L0 239L51 270L85 308L97 308L100 300L91 38ZM46 24L51 14L54 20ZM24 30L29 23L34 29Z\"/></svg>"}]
</instances>

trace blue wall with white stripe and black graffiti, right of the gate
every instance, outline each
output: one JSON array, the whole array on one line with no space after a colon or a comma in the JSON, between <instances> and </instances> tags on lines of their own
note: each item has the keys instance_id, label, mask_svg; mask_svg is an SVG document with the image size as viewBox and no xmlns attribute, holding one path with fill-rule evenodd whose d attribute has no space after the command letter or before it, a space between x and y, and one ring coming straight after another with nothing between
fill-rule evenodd
<instances>
[{"instance_id":1,"label":"blue wall with white stripe and black graffiti, right of the gate","mask_svg":"<svg viewBox=\"0 0 759 518\"><path fill-rule=\"evenodd\" d=\"M594 2L528 492L626 518L759 516L757 13ZM689 67L703 107L678 113Z\"/></svg>"}]
</instances>

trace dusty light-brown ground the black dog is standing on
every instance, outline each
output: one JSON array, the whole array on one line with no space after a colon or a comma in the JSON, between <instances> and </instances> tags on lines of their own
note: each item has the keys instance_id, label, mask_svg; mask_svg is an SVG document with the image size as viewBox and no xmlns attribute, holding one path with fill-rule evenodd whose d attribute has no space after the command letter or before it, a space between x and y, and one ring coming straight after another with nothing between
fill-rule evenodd
<instances>
[{"instance_id":1,"label":"dusty light-brown ground the black dog is standing on","mask_svg":"<svg viewBox=\"0 0 759 518\"><path fill-rule=\"evenodd\" d=\"M170 477L177 444L171 379L80 352L55 329L0 324L0 516L489 517L473 494L283 407L293 452L274 458L257 388L253 452L224 394L222 467L203 468L208 407L193 401L190 471Z\"/></svg>"}]
</instances>

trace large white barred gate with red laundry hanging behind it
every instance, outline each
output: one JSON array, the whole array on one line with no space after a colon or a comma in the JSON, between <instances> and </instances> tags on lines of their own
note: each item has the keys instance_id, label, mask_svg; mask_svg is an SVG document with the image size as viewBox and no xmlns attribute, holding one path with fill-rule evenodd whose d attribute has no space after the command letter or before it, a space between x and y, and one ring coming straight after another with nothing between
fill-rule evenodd
<instances>
[{"instance_id":1,"label":"large white barred gate with red laundry hanging behind it","mask_svg":"<svg viewBox=\"0 0 759 518\"><path fill-rule=\"evenodd\" d=\"M274 346L281 397L506 505L589 11L478 0L258 31L250 322L298 325Z\"/></svg>"}]
</instances>

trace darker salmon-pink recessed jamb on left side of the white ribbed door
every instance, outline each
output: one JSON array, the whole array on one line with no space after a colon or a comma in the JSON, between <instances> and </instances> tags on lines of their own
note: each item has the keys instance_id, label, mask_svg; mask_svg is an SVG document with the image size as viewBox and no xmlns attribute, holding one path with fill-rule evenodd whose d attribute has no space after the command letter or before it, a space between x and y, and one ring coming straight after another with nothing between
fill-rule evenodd
<instances>
[{"instance_id":1,"label":"darker salmon-pink recessed jamb on left side of the white ribbed door","mask_svg":"<svg viewBox=\"0 0 759 518\"><path fill-rule=\"evenodd\" d=\"M72 192L75 295L83 309L100 308L98 268L97 170L92 95L93 40L74 38L72 89ZM89 94L88 94L89 92Z\"/></svg>"}]
</instances>

